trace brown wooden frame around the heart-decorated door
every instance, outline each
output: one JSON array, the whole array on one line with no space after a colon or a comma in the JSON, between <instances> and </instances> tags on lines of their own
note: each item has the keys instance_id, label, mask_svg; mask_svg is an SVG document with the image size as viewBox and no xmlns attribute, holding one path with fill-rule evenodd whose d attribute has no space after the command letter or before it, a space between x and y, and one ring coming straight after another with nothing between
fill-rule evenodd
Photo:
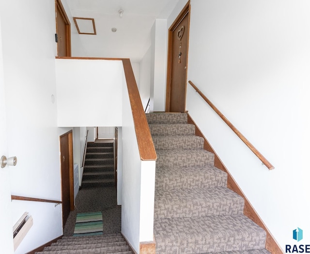
<instances>
[{"instance_id":1,"label":"brown wooden frame around the heart-decorated door","mask_svg":"<svg viewBox=\"0 0 310 254\"><path fill-rule=\"evenodd\" d=\"M187 83L187 62L188 62L188 45L189 45L189 22L190 22L190 1L186 3L180 14L176 17L168 30L168 59L167 59L167 87L166 87L166 112L170 112L171 102L171 79L172 79L172 49L173 49L173 31L180 24L183 18L188 14L188 31L187 31L187 51L186 51L186 83ZM184 93L186 94L186 87ZM186 96L185 96L186 97ZM186 99L185 99L186 100ZM184 102L186 105L186 101ZM184 106L185 111L185 106Z\"/></svg>"}]
</instances>

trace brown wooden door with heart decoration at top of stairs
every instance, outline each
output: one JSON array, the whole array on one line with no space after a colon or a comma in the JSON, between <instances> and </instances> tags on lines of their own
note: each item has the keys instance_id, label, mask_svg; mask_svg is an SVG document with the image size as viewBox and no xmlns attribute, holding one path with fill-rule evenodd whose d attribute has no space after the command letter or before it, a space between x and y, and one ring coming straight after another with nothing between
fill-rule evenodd
<instances>
[{"instance_id":1,"label":"brown wooden door with heart decoration at top of stairs","mask_svg":"<svg viewBox=\"0 0 310 254\"><path fill-rule=\"evenodd\" d=\"M186 65L189 32L188 10L174 22L176 25L170 30L170 66L171 74L167 89L168 109L170 112L185 112L186 104Z\"/></svg>"}]
</instances>

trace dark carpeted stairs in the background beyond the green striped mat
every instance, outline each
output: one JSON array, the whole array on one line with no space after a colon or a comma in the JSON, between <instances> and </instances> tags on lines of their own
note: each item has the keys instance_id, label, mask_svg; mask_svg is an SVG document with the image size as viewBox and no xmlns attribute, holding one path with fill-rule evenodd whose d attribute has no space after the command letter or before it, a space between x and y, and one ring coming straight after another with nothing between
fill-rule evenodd
<instances>
[{"instance_id":1,"label":"dark carpeted stairs in the background beyond the green striped mat","mask_svg":"<svg viewBox=\"0 0 310 254\"><path fill-rule=\"evenodd\" d=\"M87 143L82 188L114 186L113 143Z\"/></svg>"}]
</instances>

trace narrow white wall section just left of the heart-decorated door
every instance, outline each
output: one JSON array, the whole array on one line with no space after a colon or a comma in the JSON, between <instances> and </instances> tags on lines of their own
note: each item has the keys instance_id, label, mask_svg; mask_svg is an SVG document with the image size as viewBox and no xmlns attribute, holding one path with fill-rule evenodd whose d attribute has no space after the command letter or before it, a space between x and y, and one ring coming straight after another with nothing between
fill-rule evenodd
<instances>
[{"instance_id":1,"label":"narrow white wall section just left of the heart-decorated door","mask_svg":"<svg viewBox=\"0 0 310 254\"><path fill-rule=\"evenodd\" d=\"M167 77L167 20L156 19L151 30L151 111L165 111Z\"/></svg>"}]
</instances>

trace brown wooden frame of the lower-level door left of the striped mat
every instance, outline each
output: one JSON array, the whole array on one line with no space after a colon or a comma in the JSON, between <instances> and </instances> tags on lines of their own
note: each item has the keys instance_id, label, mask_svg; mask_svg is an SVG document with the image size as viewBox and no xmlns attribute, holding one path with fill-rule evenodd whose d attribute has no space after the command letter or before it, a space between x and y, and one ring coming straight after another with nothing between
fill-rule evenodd
<instances>
[{"instance_id":1,"label":"brown wooden frame of the lower-level door left of the striped mat","mask_svg":"<svg viewBox=\"0 0 310 254\"><path fill-rule=\"evenodd\" d=\"M68 136L68 153L69 153L69 191L70 191L70 211L74 210L74 175L73 175L73 131L72 129L69 130L68 132L62 134L59 136L59 145L60 145L60 151L62 151L61 149L61 138ZM62 163L61 163L61 159L60 158L60 173L61 173L61 180L63 182L63 178L62 178ZM62 188L62 184L61 184L61 188ZM62 214L63 214L63 205L64 203L62 202ZM64 222L62 222L64 226Z\"/></svg>"}]
</instances>

